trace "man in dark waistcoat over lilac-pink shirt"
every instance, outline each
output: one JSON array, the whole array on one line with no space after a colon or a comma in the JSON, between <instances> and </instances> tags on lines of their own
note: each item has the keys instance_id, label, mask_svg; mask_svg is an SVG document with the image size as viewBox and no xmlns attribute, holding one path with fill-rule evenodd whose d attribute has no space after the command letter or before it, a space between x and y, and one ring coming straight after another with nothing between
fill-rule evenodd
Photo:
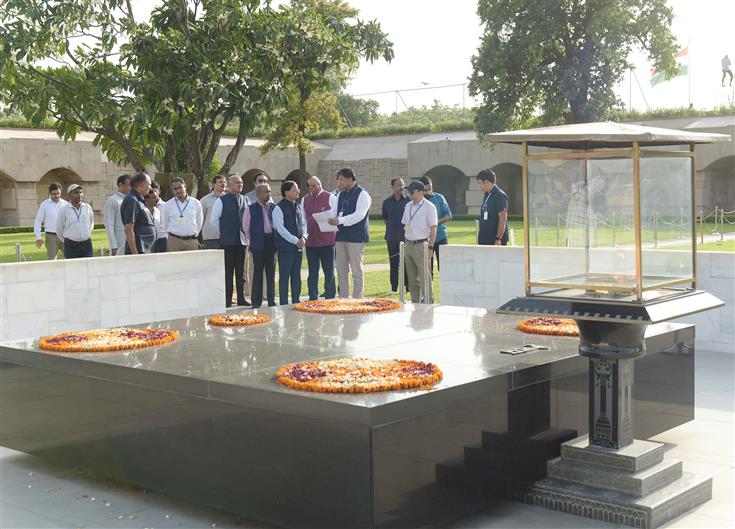
<instances>
[{"instance_id":1,"label":"man in dark waistcoat over lilac-pink shirt","mask_svg":"<svg viewBox=\"0 0 735 529\"><path fill-rule=\"evenodd\" d=\"M257 184L256 200L245 208L242 215L242 231L250 241L250 255L253 256L253 284L250 302L253 308L263 303L263 270L265 270L266 296L268 306L276 305L276 247L273 242L273 209L271 186Z\"/></svg>"}]
</instances>

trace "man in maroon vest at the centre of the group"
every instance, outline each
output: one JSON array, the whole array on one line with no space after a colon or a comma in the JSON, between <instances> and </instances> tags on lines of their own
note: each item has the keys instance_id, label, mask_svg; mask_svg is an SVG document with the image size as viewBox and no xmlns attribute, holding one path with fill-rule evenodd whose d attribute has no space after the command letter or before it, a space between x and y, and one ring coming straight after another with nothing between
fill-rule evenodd
<instances>
[{"instance_id":1,"label":"man in maroon vest at the centre of the group","mask_svg":"<svg viewBox=\"0 0 735 529\"><path fill-rule=\"evenodd\" d=\"M330 211L337 207L337 197L322 189L321 181L312 176L307 180L309 192L302 203L306 214L306 226L309 238L306 240L306 260L309 263L309 299L319 297L319 263L324 270L324 297L333 299L336 296L334 285L334 240L337 232L322 232L314 220L314 213Z\"/></svg>"}]
</instances>

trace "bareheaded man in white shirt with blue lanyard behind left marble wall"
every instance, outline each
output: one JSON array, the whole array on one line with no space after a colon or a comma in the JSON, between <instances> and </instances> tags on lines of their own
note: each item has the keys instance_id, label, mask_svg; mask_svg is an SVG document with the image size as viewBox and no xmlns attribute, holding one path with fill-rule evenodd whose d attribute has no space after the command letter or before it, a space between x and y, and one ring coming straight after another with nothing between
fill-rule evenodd
<instances>
[{"instance_id":1,"label":"bareheaded man in white shirt with blue lanyard behind left marble wall","mask_svg":"<svg viewBox=\"0 0 735 529\"><path fill-rule=\"evenodd\" d=\"M173 198L163 208L163 225L168 233L167 252L185 252L199 248L197 236L202 230L202 204L186 194L183 178L171 180Z\"/></svg>"}]
</instances>

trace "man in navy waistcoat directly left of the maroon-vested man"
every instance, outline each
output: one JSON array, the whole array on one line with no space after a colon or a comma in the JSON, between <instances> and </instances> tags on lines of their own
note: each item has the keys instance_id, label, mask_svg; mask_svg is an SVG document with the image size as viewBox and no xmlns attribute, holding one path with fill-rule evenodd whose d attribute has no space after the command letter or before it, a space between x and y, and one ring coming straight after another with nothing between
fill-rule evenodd
<instances>
[{"instance_id":1,"label":"man in navy waistcoat directly left of the maroon-vested man","mask_svg":"<svg viewBox=\"0 0 735 529\"><path fill-rule=\"evenodd\" d=\"M299 198L299 186L293 180L281 184L283 199L273 210L278 251L278 297L281 305L288 305L288 285L291 284L291 302L301 301L301 262L306 239L306 217Z\"/></svg>"}]
</instances>

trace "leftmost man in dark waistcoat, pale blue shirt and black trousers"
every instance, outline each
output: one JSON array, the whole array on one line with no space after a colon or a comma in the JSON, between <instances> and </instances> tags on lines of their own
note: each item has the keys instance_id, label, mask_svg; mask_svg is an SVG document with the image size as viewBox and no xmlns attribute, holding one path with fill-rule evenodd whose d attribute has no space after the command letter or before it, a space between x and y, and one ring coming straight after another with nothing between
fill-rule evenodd
<instances>
[{"instance_id":1,"label":"leftmost man in dark waistcoat, pale blue shirt and black trousers","mask_svg":"<svg viewBox=\"0 0 735 529\"><path fill-rule=\"evenodd\" d=\"M210 223L219 229L219 244L225 254L225 306L232 306L232 274L235 274L237 304L250 306L245 301L243 271L245 268L245 234L242 231L242 213L245 197L242 196L242 178L233 175L228 179L229 191L219 197L212 206Z\"/></svg>"}]
</instances>

